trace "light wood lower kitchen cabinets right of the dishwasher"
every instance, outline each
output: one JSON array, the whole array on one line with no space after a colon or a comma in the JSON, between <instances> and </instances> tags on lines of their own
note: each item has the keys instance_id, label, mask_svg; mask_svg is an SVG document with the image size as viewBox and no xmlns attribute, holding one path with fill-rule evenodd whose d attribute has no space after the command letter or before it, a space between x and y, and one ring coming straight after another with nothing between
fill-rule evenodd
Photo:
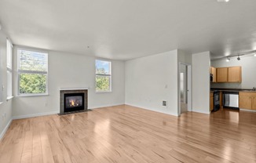
<instances>
[{"instance_id":1,"label":"light wood lower kitchen cabinets right of the dishwasher","mask_svg":"<svg viewBox=\"0 0 256 163\"><path fill-rule=\"evenodd\" d=\"M256 110L256 92L240 92L241 109Z\"/></svg>"}]
</instances>

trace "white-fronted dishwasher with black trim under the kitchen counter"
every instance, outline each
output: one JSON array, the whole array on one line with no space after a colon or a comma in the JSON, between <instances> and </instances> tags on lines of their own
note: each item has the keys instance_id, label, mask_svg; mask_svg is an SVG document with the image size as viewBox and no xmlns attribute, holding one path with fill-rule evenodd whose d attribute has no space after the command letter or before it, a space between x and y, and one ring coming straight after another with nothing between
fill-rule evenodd
<instances>
[{"instance_id":1,"label":"white-fronted dishwasher with black trim under the kitchen counter","mask_svg":"<svg viewBox=\"0 0 256 163\"><path fill-rule=\"evenodd\" d=\"M223 92L223 108L239 110L239 92Z\"/></svg>"}]
</instances>

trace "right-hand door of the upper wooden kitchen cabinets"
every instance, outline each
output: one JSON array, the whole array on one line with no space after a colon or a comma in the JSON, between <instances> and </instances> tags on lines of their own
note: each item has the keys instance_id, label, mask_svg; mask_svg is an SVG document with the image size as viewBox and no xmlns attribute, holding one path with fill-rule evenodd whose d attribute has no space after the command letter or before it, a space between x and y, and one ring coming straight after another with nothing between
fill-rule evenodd
<instances>
[{"instance_id":1,"label":"right-hand door of the upper wooden kitchen cabinets","mask_svg":"<svg viewBox=\"0 0 256 163\"><path fill-rule=\"evenodd\" d=\"M242 82L242 68L229 67L228 68L228 82Z\"/></svg>"}]
</instances>

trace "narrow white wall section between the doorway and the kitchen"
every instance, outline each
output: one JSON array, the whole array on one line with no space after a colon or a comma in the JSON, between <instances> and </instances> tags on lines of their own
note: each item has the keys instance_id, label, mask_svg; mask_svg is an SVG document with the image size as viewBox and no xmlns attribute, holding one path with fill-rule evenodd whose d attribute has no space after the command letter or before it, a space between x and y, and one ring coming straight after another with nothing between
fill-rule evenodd
<instances>
[{"instance_id":1,"label":"narrow white wall section between the doorway and the kitchen","mask_svg":"<svg viewBox=\"0 0 256 163\"><path fill-rule=\"evenodd\" d=\"M192 55L192 111L209 114L210 52Z\"/></svg>"}]
</instances>

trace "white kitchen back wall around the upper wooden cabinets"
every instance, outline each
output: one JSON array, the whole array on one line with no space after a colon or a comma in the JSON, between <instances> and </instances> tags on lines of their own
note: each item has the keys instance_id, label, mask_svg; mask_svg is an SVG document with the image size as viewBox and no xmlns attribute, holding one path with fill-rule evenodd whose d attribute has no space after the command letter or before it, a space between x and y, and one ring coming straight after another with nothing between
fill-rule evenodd
<instances>
[{"instance_id":1,"label":"white kitchen back wall around the upper wooden cabinets","mask_svg":"<svg viewBox=\"0 0 256 163\"><path fill-rule=\"evenodd\" d=\"M232 58L229 62L225 60L211 61L212 67L242 67L242 82L241 83L212 83L212 88L230 88L230 89L252 89L256 87L256 57L255 56L241 56L241 60Z\"/></svg>"}]
</instances>

